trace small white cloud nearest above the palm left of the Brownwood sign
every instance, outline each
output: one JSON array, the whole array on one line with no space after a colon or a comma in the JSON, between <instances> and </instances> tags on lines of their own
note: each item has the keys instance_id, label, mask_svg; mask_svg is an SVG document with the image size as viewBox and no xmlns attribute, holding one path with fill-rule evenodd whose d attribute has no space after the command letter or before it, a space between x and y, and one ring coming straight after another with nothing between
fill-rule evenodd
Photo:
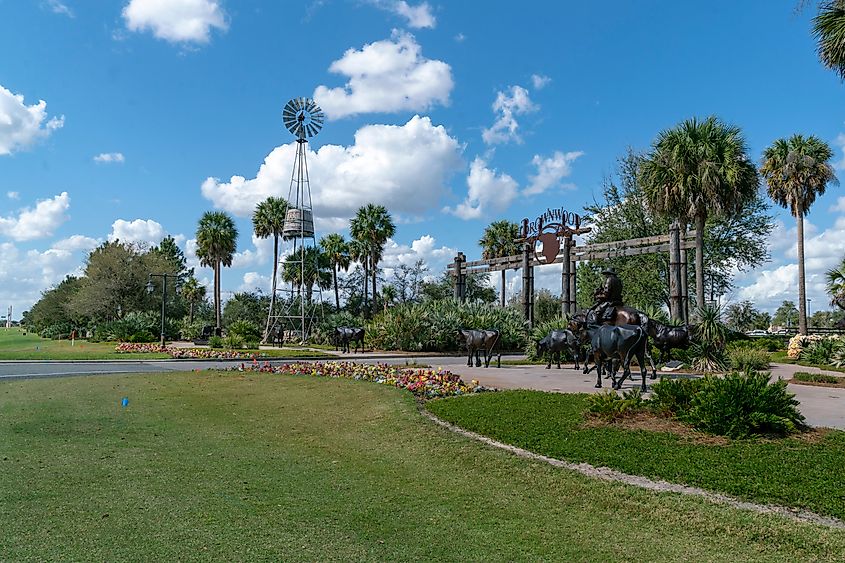
<instances>
[{"instance_id":1,"label":"small white cloud nearest above the palm left of the Brownwood sign","mask_svg":"<svg viewBox=\"0 0 845 563\"><path fill-rule=\"evenodd\" d=\"M461 219L478 219L489 213L504 211L516 198L518 188L516 180L488 168L481 157L476 157L467 177L466 199L454 209L446 207L444 211Z\"/></svg>"}]
</instances>

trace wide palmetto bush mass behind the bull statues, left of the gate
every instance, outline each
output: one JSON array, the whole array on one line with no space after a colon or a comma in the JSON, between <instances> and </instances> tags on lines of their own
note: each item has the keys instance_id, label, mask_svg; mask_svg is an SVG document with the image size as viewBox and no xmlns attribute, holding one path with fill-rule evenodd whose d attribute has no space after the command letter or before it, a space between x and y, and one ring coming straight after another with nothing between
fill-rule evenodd
<instances>
[{"instance_id":1,"label":"wide palmetto bush mass behind the bull statues, left of the gate","mask_svg":"<svg viewBox=\"0 0 845 563\"><path fill-rule=\"evenodd\" d=\"M385 350L447 352L463 346L461 328L497 329L498 350L525 345L522 315L513 309L455 300L404 303L367 323L368 346Z\"/></svg>"}]
</instances>

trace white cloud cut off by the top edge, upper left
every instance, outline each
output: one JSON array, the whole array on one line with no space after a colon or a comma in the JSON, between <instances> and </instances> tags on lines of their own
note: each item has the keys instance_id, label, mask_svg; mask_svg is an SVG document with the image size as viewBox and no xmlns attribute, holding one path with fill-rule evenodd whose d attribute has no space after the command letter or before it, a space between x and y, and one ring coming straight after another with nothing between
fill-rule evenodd
<instances>
[{"instance_id":1,"label":"white cloud cut off by the top edge, upper left","mask_svg":"<svg viewBox=\"0 0 845 563\"><path fill-rule=\"evenodd\" d=\"M212 28L228 28L217 0L131 0L123 19L130 31L151 31L170 43L208 43Z\"/></svg>"}]
</instances>

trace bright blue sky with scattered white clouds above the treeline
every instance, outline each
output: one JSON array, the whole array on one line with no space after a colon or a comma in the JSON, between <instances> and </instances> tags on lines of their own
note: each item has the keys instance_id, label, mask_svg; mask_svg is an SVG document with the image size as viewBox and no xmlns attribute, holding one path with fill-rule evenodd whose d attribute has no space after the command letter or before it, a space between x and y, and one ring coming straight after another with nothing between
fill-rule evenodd
<instances>
[{"instance_id":1,"label":"bright blue sky with scattered white clouds above the treeline","mask_svg":"<svg viewBox=\"0 0 845 563\"><path fill-rule=\"evenodd\" d=\"M224 290L268 287L249 214L288 193L295 96L329 118L309 155L318 229L385 204L388 268L439 272L457 250L478 257L492 220L579 211L626 147L692 116L741 126L755 158L818 135L843 176L845 85L795 5L0 0L0 306L19 317L109 238L171 234L194 262L209 209L241 231ZM845 254L843 194L808 217L812 310ZM772 262L726 300L797 298L794 220L775 212ZM556 268L538 285L558 290Z\"/></svg>"}]
</instances>

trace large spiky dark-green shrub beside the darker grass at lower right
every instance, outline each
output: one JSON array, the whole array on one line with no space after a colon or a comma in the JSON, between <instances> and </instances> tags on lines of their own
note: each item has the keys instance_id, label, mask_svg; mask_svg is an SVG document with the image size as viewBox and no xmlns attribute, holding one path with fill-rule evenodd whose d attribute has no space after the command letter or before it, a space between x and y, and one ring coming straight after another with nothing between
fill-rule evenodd
<instances>
[{"instance_id":1,"label":"large spiky dark-green shrub beside the darker grass at lower right","mask_svg":"<svg viewBox=\"0 0 845 563\"><path fill-rule=\"evenodd\" d=\"M706 376L682 419L704 432L730 438L783 435L804 426L797 407L786 381L770 383L767 372L731 372Z\"/></svg>"}]
</instances>

